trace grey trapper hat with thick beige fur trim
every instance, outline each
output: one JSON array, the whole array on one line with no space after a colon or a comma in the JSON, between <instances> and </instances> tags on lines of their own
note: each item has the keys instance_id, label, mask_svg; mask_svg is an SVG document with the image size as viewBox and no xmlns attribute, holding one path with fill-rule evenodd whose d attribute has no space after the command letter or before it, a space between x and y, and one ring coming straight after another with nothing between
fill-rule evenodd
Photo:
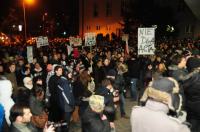
<instances>
[{"instance_id":1,"label":"grey trapper hat with thick beige fur trim","mask_svg":"<svg viewBox=\"0 0 200 132\"><path fill-rule=\"evenodd\" d=\"M182 97L179 95L178 82L170 77L159 77L149 83L140 101L149 98L168 105L170 110L177 113L181 110Z\"/></svg>"}]
</instances>

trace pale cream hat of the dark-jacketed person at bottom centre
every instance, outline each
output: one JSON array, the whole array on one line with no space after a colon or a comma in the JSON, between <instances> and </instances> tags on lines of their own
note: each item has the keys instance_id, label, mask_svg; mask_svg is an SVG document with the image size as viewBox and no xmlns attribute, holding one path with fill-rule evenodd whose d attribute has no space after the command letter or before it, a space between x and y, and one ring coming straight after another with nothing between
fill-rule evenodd
<instances>
[{"instance_id":1,"label":"pale cream hat of the dark-jacketed person at bottom centre","mask_svg":"<svg viewBox=\"0 0 200 132\"><path fill-rule=\"evenodd\" d=\"M100 95L92 95L89 98L89 106L92 110L100 113L104 110L104 97Z\"/></svg>"}]
</instances>

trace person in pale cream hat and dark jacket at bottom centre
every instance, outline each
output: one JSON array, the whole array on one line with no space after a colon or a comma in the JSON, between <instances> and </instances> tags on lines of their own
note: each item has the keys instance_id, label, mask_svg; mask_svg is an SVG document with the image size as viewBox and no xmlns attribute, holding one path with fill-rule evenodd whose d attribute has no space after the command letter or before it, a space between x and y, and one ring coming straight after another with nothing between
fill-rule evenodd
<instances>
[{"instance_id":1,"label":"person in pale cream hat and dark jacket at bottom centre","mask_svg":"<svg viewBox=\"0 0 200 132\"><path fill-rule=\"evenodd\" d=\"M85 110L81 121L84 132L110 132L111 128L107 117L102 114L104 110L104 97L92 95L89 98L89 106Z\"/></svg>"}]
</instances>

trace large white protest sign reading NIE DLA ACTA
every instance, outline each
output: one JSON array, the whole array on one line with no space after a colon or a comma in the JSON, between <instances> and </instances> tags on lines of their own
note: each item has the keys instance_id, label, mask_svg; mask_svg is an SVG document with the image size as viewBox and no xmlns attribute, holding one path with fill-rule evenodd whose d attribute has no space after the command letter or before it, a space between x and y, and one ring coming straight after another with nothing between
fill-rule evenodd
<instances>
[{"instance_id":1,"label":"large white protest sign reading NIE DLA ACTA","mask_svg":"<svg viewBox=\"0 0 200 132\"><path fill-rule=\"evenodd\" d=\"M154 55L155 28L138 28L138 55Z\"/></svg>"}]
</instances>

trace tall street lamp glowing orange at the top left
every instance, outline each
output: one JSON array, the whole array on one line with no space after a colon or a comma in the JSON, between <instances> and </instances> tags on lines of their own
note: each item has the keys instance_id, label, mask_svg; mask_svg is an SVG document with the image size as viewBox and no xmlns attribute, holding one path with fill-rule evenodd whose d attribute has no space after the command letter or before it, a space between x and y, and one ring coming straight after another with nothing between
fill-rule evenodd
<instances>
[{"instance_id":1,"label":"tall street lamp glowing orange at the top left","mask_svg":"<svg viewBox=\"0 0 200 132\"><path fill-rule=\"evenodd\" d=\"M26 4L32 5L34 3L34 0L23 0L23 13L24 13L24 38L25 42L27 40L27 31L26 31Z\"/></svg>"}]
</instances>

